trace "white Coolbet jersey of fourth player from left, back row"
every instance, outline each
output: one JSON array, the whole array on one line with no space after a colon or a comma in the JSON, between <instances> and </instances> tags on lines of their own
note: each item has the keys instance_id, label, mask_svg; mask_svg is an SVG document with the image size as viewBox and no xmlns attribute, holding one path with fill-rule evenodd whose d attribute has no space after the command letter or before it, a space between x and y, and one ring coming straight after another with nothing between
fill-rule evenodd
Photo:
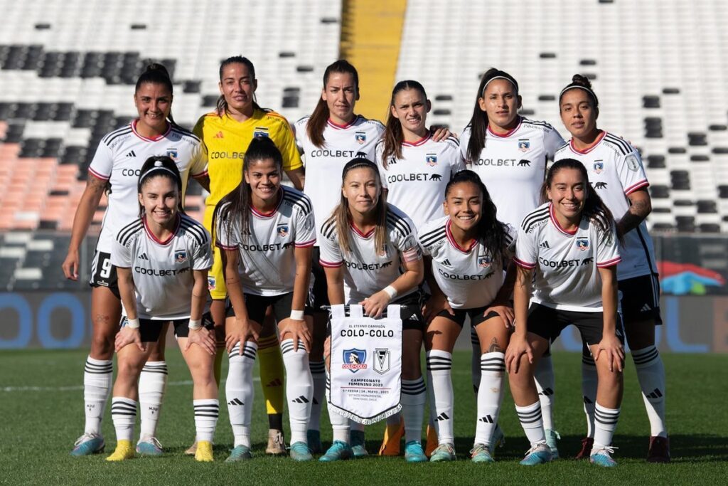
<instances>
[{"instance_id":1,"label":"white Coolbet jersey of fourth player from left, back row","mask_svg":"<svg viewBox=\"0 0 728 486\"><path fill-rule=\"evenodd\" d=\"M402 158L389 157L387 168L381 160L384 141L376 146L376 165L381 184L392 203L412 219L419 230L423 224L443 215L445 187L458 171L465 168L457 138L436 142L428 135L419 141L402 144Z\"/></svg>"}]
</instances>

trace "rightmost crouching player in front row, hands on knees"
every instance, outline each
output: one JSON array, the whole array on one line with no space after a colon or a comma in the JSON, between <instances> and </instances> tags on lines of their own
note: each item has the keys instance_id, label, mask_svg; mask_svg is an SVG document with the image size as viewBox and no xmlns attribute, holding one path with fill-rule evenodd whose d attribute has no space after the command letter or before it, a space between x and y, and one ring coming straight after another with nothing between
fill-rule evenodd
<instances>
[{"instance_id":1,"label":"rightmost crouching player in front row, hands on knees","mask_svg":"<svg viewBox=\"0 0 728 486\"><path fill-rule=\"evenodd\" d=\"M533 373L549 343L574 324L589 345L598 374L591 462L616 466L612 437L620 416L625 354L617 314L620 254L614 219L589 185L584 165L574 159L559 160L550 168L542 200L547 202L526 215L518 230L515 332L505 358L518 419L531 442L521 464L533 466L553 457Z\"/></svg>"}]
</instances>

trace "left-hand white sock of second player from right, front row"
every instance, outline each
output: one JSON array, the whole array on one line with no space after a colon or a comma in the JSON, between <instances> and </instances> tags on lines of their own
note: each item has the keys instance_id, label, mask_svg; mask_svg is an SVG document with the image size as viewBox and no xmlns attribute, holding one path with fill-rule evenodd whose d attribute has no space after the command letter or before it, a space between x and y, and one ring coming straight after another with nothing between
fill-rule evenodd
<instances>
[{"instance_id":1,"label":"left-hand white sock of second player from right, front row","mask_svg":"<svg viewBox=\"0 0 728 486\"><path fill-rule=\"evenodd\" d=\"M440 444L454 444L453 434L453 382L450 372L453 366L452 354L433 349L425 354L427 360L427 381L430 382L430 404L435 408L435 428Z\"/></svg>"}]
</instances>

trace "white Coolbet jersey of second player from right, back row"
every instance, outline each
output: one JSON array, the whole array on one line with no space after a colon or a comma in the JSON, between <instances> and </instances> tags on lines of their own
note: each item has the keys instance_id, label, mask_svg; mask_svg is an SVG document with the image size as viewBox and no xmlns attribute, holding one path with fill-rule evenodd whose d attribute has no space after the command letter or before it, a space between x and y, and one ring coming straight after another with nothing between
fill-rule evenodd
<instances>
[{"instance_id":1,"label":"white Coolbet jersey of second player from right, back row","mask_svg":"<svg viewBox=\"0 0 728 486\"><path fill-rule=\"evenodd\" d=\"M470 125L460 136L460 151L467 160ZM486 146L478 160L467 160L478 173L498 210L498 219L518 227L529 211L539 205L539 190L546 175L547 160L553 160L563 138L546 122L520 118L505 135L486 135Z\"/></svg>"}]
</instances>

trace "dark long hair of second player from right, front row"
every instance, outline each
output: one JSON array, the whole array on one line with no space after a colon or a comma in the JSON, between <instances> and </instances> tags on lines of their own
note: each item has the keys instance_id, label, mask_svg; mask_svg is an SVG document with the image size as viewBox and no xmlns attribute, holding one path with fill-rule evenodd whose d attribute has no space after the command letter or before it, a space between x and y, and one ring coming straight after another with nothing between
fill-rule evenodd
<instances>
[{"instance_id":1,"label":"dark long hair of second player from right, front row","mask_svg":"<svg viewBox=\"0 0 728 486\"><path fill-rule=\"evenodd\" d=\"M480 180L477 173L467 170L459 171L450 179L448 185L445 187L445 199L447 199L456 184L475 184L480 189L480 194L483 196L483 204L480 206L480 221L478 222L478 227L475 229L477 232L475 238L480 243L483 243L483 246L491 254L491 259L494 262L499 262L505 270L503 262L507 259L507 228L496 217L496 205L493 203L491 195L488 189L486 189L486 185L483 184L483 181Z\"/></svg>"}]
</instances>

